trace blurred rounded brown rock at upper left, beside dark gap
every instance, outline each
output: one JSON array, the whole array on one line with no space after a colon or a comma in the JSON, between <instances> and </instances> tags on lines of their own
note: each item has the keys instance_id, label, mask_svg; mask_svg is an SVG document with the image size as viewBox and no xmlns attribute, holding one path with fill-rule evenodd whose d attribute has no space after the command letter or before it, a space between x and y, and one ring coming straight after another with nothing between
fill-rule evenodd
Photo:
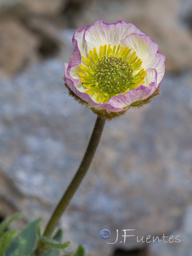
<instances>
[{"instance_id":1,"label":"blurred rounded brown rock at upper left, beside dark gap","mask_svg":"<svg viewBox=\"0 0 192 256\"><path fill-rule=\"evenodd\" d=\"M38 37L29 33L18 20L0 20L0 77L16 74L28 62L37 61L38 41Z\"/></svg>"}]
</instances>

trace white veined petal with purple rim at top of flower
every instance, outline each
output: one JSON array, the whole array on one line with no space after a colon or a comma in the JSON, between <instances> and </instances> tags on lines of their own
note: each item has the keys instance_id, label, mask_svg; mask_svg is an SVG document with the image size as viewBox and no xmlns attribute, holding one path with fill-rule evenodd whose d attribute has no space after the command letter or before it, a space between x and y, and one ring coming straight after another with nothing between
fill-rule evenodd
<instances>
[{"instance_id":1,"label":"white veined petal with purple rim at top of flower","mask_svg":"<svg viewBox=\"0 0 192 256\"><path fill-rule=\"evenodd\" d=\"M114 45L120 44L124 37L132 33L145 35L135 25L124 20L112 24L105 23L104 20L98 20L85 30L84 40L87 44L87 52L93 50L93 47L99 51L100 45L105 44L111 44L113 48Z\"/></svg>"}]
</instances>

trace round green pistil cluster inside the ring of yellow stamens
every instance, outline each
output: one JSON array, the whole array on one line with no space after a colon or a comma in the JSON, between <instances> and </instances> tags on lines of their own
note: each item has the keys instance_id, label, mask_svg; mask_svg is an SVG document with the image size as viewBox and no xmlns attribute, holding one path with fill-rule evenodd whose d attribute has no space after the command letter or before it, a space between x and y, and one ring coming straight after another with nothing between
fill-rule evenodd
<instances>
[{"instance_id":1,"label":"round green pistil cluster inside the ring of yellow stamens","mask_svg":"<svg viewBox=\"0 0 192 256\"><path fill-rule=\"evenodd\" d=\"M133 69L128 60L123 61L122 57L104 56L95 67L97 94L104 94L104 98L109 95L111 98L126 92L133 80L132 73Z\"/></svg>"}]
</instances>

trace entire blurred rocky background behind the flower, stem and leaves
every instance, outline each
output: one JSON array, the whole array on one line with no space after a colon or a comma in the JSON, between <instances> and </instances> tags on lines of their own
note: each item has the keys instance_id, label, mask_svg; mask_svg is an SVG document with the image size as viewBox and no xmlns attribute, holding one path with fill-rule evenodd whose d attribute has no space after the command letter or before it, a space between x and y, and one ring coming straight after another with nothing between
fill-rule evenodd
<instances>
[{"instance_id":1,"label":"entire blurred rocky background behind the flower, stem and leaves","mask_svg":"<svg viewBox=\"0 0 192 256\"><path fill-rule=\"evenodd\" d=\"M60 221L65 239L92 256L191 256L191 0L0 0L0 218L45 225L80 163L96 116L68 96L63 67L76 29L99 19L151 36L166 74L149 105L107 122ZM135 229L125 244L123 229ZM146 242L163 235L173 242Z\"/></svg>"}]
</instances>

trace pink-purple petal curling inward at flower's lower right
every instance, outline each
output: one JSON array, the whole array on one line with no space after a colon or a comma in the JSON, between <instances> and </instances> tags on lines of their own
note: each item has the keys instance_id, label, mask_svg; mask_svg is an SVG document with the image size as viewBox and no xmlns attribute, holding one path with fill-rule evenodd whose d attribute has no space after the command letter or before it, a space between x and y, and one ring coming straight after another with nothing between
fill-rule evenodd
<instances>
[{"instance_id":1,"label":"pink-purple petal curling inward at flower's lower right","mask_svg":"<svg viewBox=\"0 0 192 256\"><path fill-rule=\"evenodd\" d=\"M126 94L120 93L117 96L113 96L108 103L116 108L125 108L135 101L147 99L156 89L157 72L153 68L148 68L146 72L146 82L149 83L148 87L140 84L138 88L132 89Z\"/></svg>"}]
</instances>

